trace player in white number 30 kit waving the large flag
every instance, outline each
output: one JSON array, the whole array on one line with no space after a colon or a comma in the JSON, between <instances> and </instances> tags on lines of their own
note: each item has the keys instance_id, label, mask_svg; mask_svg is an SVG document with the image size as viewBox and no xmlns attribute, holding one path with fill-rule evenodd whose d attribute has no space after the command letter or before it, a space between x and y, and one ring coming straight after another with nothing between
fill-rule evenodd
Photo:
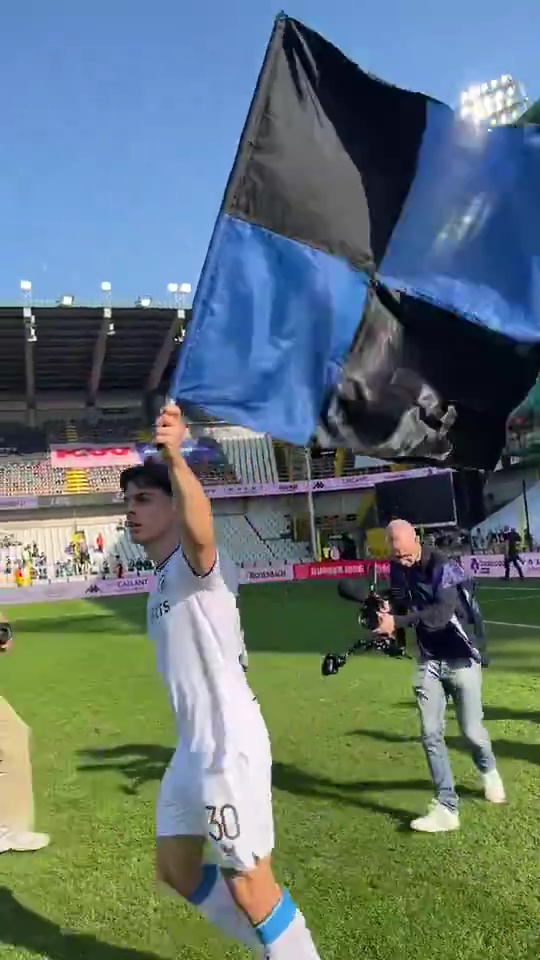
<instances>
[{"instance_id":1,"label":"player in white number 30 kit waving the large flag","mask_svg":"<svg viewBox=\"0 0 540 960\"><path fill-rule=\"evenodd\" d=\"M304 917L276 883L268 732L238 652L210 503L183 459L186 427L167 404L163 463L121 477L127 524L156 564L148 630L179 737L157 803L157 872L227 936L267 960L317 960ZM210 841L219 863L205 863Z\"/></svg>"}]
</instances>

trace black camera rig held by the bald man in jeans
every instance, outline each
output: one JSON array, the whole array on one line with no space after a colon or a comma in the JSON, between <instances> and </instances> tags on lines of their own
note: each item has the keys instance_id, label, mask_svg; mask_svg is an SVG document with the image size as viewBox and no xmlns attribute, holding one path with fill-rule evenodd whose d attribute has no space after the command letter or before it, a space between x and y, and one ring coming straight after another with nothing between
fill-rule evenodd
<instances>
[{"instance_id":1,"label":"black camera rig held by the bald man in jeans","mask_svg":"<svg viewBox=\"0 0 540 960\"><path fill-rule=\"evenodd\" d=\"M387 604L395 613L406 612L403 603L399 602L399 598L396 598L392 590L377 591L376 587L372 586L366 597L361 595L357 582L343 580L338 584L338 595L343 600L351 600L358 604L358 623L364 630L369 630L372 635L360 637L344 653L327 653L321 665L323 677L331 677L339 673L349 657L356 653L374 651L375 653L382 653L386 657L411 659L405 649L406 634L403 627L398 627L395 637L382 634L373 636L373 631L377 629L379 624L379 616Z\"/></svg>"}]
</instances>

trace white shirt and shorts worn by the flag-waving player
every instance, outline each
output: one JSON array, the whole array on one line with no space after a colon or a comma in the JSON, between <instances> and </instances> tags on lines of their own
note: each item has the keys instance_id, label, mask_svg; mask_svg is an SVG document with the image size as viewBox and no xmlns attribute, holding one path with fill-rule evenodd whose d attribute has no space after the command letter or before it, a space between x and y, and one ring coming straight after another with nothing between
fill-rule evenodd
<instances>
[{"instance_id":1,"label":"white shirt and shorts worn by the flag-waving player","mask_svg":"<svg viewBox=\"0 0 540 960\"><path fill-rule=\"evenodd\" d=\"M249 870L274 846L272 759L238 659L236 600L219 560L199 577L178 548L156 574L148 633L179 737L161 784L157 835L208 837L223 866Z\"/></svg>"}]
</instances>

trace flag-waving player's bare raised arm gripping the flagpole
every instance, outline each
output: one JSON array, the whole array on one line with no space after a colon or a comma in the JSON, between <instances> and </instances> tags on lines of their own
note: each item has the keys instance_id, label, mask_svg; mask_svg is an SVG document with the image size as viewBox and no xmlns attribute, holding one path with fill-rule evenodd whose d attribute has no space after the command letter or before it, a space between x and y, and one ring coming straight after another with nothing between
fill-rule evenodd
<instances>
[{"instance_id":1,"label":"flag-waving player's bare raised arm gripping the flagpole","mask_svg":"<svg viewBox=\"0 0 540 960\"><path fill-rule=\"evenodd\" d=\"M180 410L176 404L168 403L156 421L155 442L169 467L180 545L193 572L203 577L216 562L214 523L210 501L180 450L185 435Z\"/></svg>"}]
</instances>

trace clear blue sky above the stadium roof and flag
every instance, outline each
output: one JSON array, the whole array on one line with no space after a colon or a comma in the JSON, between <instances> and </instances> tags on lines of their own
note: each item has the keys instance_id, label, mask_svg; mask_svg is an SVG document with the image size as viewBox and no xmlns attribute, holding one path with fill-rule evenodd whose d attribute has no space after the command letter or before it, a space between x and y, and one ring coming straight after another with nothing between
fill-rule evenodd
<instances>
[{"instance_id":1,"label":"clear blue sky above the stadium roof and flag","mask_svg":"<svg viewBox=\"0 0 540 960\"><path fill-rule=\"evenodd\" d=\"M414 11L412 13L411 11ZM17 0L2 12L0 300L166 298L196 284L279 6ZM361 66L455 102L511 73L540 97L539 0L295 0Z\"/></svg>"}]
</instances>

